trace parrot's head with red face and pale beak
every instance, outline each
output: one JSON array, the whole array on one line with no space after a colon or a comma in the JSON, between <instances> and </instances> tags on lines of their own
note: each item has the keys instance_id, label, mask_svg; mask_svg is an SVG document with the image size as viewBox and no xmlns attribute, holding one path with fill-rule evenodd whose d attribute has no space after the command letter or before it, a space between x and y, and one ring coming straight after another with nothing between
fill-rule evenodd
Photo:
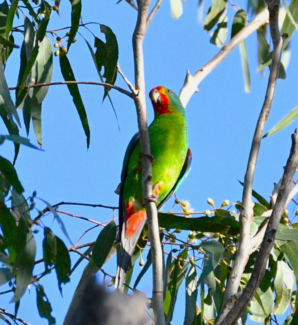
<instances>
[{"instance_id":1,"label":"parrot's head with red face and pale beak","mask_svg":"<svg viewBox=\"0 0 298 325\"><path fill-rule=\"evenodd\" d=\"M181 115L185 115L179 97L169 88L163 86L155 87L150 91L149 97L155 114L179 112Z\"/></svg>"}]
</instances>

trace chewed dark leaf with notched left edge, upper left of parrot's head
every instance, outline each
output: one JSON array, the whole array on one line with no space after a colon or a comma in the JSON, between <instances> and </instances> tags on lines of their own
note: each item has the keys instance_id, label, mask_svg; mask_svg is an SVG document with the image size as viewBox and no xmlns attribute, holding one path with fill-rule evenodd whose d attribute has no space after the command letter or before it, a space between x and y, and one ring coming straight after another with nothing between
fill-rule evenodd
<instances>
[{"instance_id":1,"label":"chewed dark leaf with notched left edge, upper left of parrot's head","mask_svg":"<svg viewBox=\"0 0 298 325\"><path fill-rule=\"evenodd\" d=\"M114 85L117 77L117 62L119 56L117 38L113 31L106 25L101 24L100 31L106 35L106 43L95 36L94 47L96 47L96 64L98 71L101 71L102 67L105 68L103 77L106 78L106 83ZM109 90L110 87L105 87L103 101Z\"/></svg>"}]
</instances>

